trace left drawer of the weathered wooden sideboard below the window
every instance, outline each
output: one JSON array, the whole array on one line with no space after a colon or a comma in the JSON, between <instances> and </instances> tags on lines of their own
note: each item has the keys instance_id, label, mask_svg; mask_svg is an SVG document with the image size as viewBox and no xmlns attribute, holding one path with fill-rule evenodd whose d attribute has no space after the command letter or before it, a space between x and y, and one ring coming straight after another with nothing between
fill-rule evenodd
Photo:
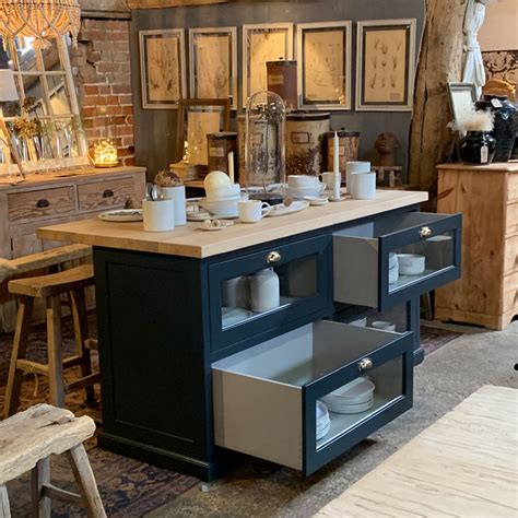
<instances>
[{"instance_id":1,"label":"left drawer of the weathered wooden sideboard below the window","mask_svg":"<svg viewBox=\"0 0 518 518\"><path fill-rule=\"evenodd\" d=\"M56 187L8 195L10 221L35 220L75 210L73 187Z\"/></svg>"}]
</instances>

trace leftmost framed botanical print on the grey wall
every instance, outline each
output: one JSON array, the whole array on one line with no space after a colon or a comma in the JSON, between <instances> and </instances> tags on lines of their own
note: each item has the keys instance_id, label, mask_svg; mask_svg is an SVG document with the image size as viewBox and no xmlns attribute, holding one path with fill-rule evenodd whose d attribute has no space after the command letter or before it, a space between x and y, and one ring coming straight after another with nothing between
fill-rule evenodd
<instances>
[{"instance_id":1,"label":"leftmost framed botanical print on the grey wall","mask_svg":"<svg viewBox=\"0 0 518 518\"><path fill-rule=\"evenodd\" d=\"M177 108L187 96L183 28L140 31L143 108Z\"/></svg>"}]
</instances>

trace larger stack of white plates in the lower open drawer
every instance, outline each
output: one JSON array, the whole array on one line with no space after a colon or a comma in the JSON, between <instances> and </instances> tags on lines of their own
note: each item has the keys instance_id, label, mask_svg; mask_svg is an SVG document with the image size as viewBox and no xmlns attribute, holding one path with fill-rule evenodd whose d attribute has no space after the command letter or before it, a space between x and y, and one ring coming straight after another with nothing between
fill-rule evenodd
<instances>
[{"instance_id":1,"label":"larger stack of white plates in the lower open drawer","mask_svg":"<svg viewBox=\"0 0 518 518\"><path fill-rule=\"evenodd\" d=\"M322 398L331 412L355 414L365 412L374 403L375 385L365 377L356 378Z\"/></svg>"}]
</instances>

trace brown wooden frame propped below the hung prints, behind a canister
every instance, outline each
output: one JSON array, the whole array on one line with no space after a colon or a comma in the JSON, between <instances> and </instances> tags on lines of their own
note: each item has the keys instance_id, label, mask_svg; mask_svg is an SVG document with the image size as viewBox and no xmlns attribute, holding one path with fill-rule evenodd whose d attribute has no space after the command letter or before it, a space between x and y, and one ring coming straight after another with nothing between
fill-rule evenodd
<instances>
[{"instance_id":1,"label":"brown wooden frame propped below the hung prints, behind a canister","mask_svg":"<svg viewBox=\"0 0 518 518\"><path fill-rule=\"evenodd\" d=\"M191 165L207 166L207 134L228 131L229 125L228 98L180 99L177 118L177 162L185 160Z\"/></svg>"}]
</instances>

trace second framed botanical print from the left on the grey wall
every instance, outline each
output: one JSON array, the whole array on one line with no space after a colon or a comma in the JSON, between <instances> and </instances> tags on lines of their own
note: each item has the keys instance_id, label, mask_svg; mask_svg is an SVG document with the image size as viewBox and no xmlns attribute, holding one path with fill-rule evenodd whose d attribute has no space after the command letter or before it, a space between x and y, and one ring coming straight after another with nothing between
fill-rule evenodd
<instances>
[{"instance_id":1,"label":"second framed botanical print from the left on the grey wall","mask_svg":"<svg viewBox=\"0 0 518 518\"><path fill-rule=\"evenodd\" d=\"M237 109L236 27L189 28L190 97L229 98Z\"/></svg>"}]
</instances>

